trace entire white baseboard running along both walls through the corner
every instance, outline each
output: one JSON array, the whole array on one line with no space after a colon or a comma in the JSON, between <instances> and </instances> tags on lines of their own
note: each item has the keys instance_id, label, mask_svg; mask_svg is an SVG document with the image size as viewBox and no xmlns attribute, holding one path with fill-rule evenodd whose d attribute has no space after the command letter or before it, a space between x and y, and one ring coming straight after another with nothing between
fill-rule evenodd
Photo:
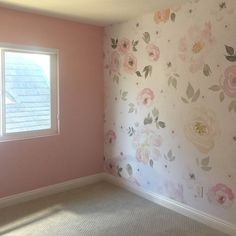
<instances>
[{"instance_id":1,"label":"entire white baseboard running along both walls through the corner","mask_svg":"<svg viewBox=\"0 0 236 236\"><path fill-rule=\"evenodd\" d=\"M153 192L148 192L141 187L134 186L133 184L127 182L124 179L117 178L117 177L114 177L112 175L105 174L105 173L99 173L96 175L81 177L78 179L73 179L66 182L38 188L32 191L15 194L9 197L0 198L0 208L7 207L10 205L15 205L22 202L27 202L33 199L37 199L39 197L44 197L51 194L64 192L70 189L83 187L83 186L98 183L101 181L106 181L111 184L117 185L136 195L139 195L140 197L143 197L149 201L152 201L166 208L169 208L177 213L185 215L189 218L192 218L196 221L206 224L207 226L215 228L226 234L230 234L232 236L236 235L236 225L232 223L229 223L227 221L224 221L212 215L206 214L202 211L196 210L192 207L176 202L167 197L158 195Z\"/></svg>"}]
</instances>

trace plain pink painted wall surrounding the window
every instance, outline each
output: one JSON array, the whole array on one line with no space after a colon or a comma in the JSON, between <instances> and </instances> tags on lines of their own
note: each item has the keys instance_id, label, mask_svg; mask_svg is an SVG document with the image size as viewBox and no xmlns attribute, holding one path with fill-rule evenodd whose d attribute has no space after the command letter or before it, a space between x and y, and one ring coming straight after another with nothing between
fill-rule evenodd
<instances>
[{"instance_id":1,"label":"plain pink painted wall surrounding the window","mask_svg":"<svg viewBox=\"0 0 236 236\"><path fill-rule=\"evenodd\" d=\"M58 136L0 143L0 197L96 174L103 165L103 29L0 8L0 42L58 48Z\"/></svg>"}]
</instances>

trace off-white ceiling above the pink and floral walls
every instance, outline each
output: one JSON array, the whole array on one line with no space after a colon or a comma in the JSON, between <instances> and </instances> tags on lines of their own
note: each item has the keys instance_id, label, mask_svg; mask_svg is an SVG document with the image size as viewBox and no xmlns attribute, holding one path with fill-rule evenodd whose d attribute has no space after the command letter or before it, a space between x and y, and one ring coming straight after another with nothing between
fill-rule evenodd
<instances>
[{"instance_id":1,"label":"off-white ceiling above the pink and floral walls","mask_svg":"<svg viewBox=\"0 0 236 236\"><path fill-rule=\"evenodd\" d=\"M0 6L106 26L187 0L0 0Z\"/></svg>"}]
</instances>

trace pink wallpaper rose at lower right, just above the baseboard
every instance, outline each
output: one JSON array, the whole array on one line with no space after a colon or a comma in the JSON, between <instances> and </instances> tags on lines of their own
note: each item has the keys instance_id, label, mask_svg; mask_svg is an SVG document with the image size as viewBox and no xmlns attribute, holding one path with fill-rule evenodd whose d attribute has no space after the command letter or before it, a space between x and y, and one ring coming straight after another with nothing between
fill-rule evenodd
<instances>
[{"instance_id":1,"label":"pink wallpaper rose at lower right, just above the baseboard","mask_svg":"<svg viewBox=\"0 0 236 236\"><path fill-rule=\"evenodd\" d=\"M234 198L232 189L225 184L217 184L208 192L208 200L223 207L230 207L233 204Z\"/></svg>"}]
</instances>

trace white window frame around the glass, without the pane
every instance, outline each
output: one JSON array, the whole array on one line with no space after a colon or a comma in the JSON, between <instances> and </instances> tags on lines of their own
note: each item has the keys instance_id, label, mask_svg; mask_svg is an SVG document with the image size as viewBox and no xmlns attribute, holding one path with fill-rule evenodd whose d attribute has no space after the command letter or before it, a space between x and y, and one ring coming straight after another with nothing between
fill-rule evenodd
<instances>
[{"instance_id":1,"label":"white window frame around the glass, without the pane","mask_svg":"<svg viewBox=\"0 0 236 236\"><path fill-rule=\"evenodd\" d=\"M6 133L5 119L5 52L22 52L50 56L50 95L51 95L51 128L24 132ZM37 137L57 135L59 130L59 78L58 78L58 49L22 46L0 43L0 142L24 140Z\"/></svg>"}]
</instances>

